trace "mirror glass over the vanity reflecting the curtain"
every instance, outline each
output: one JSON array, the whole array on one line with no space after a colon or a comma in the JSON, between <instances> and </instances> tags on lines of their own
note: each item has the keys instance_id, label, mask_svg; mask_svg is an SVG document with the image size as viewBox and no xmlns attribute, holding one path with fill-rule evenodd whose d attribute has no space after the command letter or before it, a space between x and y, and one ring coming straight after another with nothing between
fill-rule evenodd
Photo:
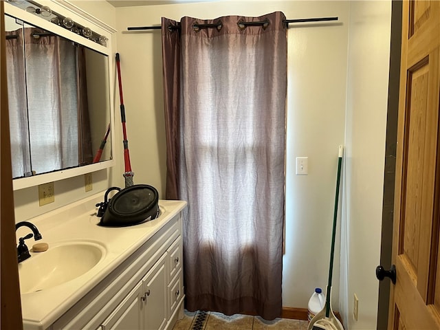
<instances>
[{"instance_id":1,"label":"mirror glass over the vanity reflecting the curtain","mask_svg":"<svg viewBox=\"0 0 440 330\"><path fill-rule=\"evenodd\" d=\"M108 55L11 14L5 34L13 178L111 160Z\"/></svg>"}]
</instances>

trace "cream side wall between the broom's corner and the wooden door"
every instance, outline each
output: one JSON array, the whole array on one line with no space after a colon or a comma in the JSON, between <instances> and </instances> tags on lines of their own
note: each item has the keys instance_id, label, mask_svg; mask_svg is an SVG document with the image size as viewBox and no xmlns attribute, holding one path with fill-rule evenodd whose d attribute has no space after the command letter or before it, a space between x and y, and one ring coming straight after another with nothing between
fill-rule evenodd
<instances>
[{"instance_id":1,"label":"cream side wall between the broom's corner and the wooden door","mask_svg":"<svg viewBox=\"0 0 440 330\"><path fill-rule=\"evenodd\" d=\"M348 329L375 329L391 1L352 1L349 31L341 309ZM357 322L354 294L359 298Z\"/></svg>"}]
</instances>

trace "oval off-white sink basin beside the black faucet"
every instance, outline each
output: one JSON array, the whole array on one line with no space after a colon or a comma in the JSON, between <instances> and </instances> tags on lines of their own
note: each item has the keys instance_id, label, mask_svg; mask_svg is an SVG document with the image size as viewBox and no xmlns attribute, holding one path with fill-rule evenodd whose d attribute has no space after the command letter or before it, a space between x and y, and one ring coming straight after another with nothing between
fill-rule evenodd
<instances>
[{"instance_id":1,"label":"oval off-white sink basin beside the black faucet","mask_svg":"<svg viewBox=\"0 0 440 330\"><path fill-rule=\"evenodd\" d=\"M104 258L105 248L88 241L63 242L31 254L19 263L21 294L49 289L89 272Z\"/></svg>"}]
</instances>

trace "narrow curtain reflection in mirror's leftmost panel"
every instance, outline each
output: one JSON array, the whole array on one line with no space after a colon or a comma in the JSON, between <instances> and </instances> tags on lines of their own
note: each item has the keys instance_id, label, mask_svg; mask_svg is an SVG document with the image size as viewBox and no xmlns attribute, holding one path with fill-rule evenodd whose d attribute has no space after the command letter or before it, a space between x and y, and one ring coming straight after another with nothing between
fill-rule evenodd
<instances>
[{"instance_id":1,"label":"narrow curtain reflection in mirror's leftmost panel","mask_svg":"<svg viewBox=\"0 0 440 330\"><path fill-rule=\"evenodd\" d=\"M31 171L23 30L5 32L5 34L12 177L22 177Z\"/></svg>"}]
</instances>

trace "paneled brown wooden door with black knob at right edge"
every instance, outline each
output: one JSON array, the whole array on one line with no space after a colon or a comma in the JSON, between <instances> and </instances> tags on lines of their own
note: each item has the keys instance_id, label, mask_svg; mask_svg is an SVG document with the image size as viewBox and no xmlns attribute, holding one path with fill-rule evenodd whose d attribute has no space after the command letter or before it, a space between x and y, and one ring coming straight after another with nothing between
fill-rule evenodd
<instances>
[{"instance_id":1,"label":"paneled brown wooden door with black knob at right edge","mask_svg":"<svg viewBox=\"0 0 440 330\"><path fill-rule=\"evenodd\" d=\"M440 1L404 1L388 329L440 329Z\"/></svg>"}]
</instances>

